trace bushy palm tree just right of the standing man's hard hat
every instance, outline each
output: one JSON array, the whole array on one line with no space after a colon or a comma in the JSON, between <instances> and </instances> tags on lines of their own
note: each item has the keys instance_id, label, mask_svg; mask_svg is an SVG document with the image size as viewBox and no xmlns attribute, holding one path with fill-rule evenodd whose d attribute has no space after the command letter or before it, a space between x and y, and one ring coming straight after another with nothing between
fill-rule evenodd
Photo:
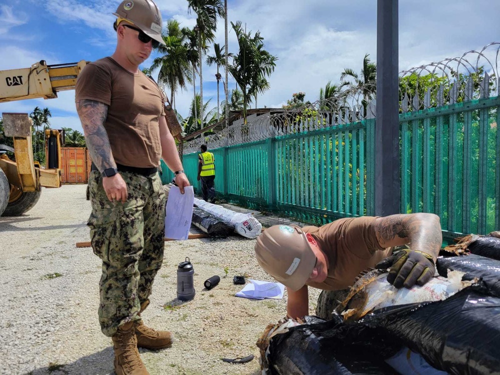
<instances>
[{"instance_id":1,"label":"bushy palm tree just right of the standing man's hard hat","mask_svg":"<svg viewBox=\"0 0 500 375\"><path fill-rule=\"evenodd\" d=\"M149 69L152 72L159 68L158 83L170 87L170 103L173 103L175 91L185 88L190 82L191 64L185 44L186 34L187 30L182 30L177 20L169 19L161 35L165 45L160 44L157 48L163 55L156 57Z\"/></svg>"}]
</instances>

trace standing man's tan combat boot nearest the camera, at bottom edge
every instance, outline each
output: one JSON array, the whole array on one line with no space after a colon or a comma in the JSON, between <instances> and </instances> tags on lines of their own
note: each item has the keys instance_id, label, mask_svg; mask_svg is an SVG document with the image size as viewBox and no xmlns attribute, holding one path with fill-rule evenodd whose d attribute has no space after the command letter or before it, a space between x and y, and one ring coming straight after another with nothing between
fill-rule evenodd
<instances>
[{"instance_id":1,"label":"standing man's tan combat boot nearest the camera, at bottom edge","mask_svg":"<svg viewBox=\"0 0 500 375\"><path fill-rule=\"evenodd\" d=\"M116 375L149 375L137 350L133 322L118 327L111 337L114 343L114 371Z\"/></svg>"}]
</instances>

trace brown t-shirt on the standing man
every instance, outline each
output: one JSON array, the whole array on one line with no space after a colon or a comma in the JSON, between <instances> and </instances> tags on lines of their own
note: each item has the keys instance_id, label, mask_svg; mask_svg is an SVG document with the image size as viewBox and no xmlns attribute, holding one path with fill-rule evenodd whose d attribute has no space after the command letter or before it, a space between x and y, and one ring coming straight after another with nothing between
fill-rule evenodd
<instances>
[{"instance_id":1,"label":"brown t-shirt on the standing man","mask_svg":"<svg viewBox=\"0 0 500 375\"><path fill-rule=\"evenodd\" d=\"M161 157L160 89L144 73L132 74L111 57L87 64L76 80L75 99L108 105L104 123L114 160L123 165L155 167Z\"/></svg>"}]
</instances>

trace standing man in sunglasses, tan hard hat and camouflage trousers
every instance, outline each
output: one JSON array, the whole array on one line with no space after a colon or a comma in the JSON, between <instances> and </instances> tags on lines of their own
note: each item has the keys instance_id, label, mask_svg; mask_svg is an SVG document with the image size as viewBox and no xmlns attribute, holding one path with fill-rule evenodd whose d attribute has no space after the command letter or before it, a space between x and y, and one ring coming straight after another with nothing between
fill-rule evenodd
<instances>
[{"instance_id":1,"label":"standing man in sunglasses, tan hard hat and camouflage trousers","mask_svg":"<svg viewBox=\"0 0 500 375\"><path fill-rule=\"evenodd\" d=\"M168 347L173 338L140 317L163 260L160 157L182 193L189 181L168 130L163 95L139 70L152 48L164 43L160 11L152 0L133 0L122 1L113 14L116 49L81 71L76 109L93 160L88 226L102 259L100 326L112 337L117 375L146 375L137 347Z\"/></svg>"}]
</instances>

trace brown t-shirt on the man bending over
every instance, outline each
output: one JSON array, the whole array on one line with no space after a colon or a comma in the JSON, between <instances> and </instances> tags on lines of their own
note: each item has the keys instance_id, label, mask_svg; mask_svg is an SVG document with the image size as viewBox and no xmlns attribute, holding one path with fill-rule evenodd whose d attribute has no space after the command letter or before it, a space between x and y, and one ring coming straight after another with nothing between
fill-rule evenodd
<instances>
[{"instance_id":1,"label":"brown t-shirt on the man bending over","mask_svg":"<svg viewBox=\"0 0 500 375\"><path fill-rule=\"evenodd\" d=\"M321 283L307 285L324 290L345 289L354 283L359 272L373 267L390 255L390 247L382 248L375 236L376 217L347 217L321 227L304 226L328 257L328 276Z\"/></svg>"}]
</instances>

